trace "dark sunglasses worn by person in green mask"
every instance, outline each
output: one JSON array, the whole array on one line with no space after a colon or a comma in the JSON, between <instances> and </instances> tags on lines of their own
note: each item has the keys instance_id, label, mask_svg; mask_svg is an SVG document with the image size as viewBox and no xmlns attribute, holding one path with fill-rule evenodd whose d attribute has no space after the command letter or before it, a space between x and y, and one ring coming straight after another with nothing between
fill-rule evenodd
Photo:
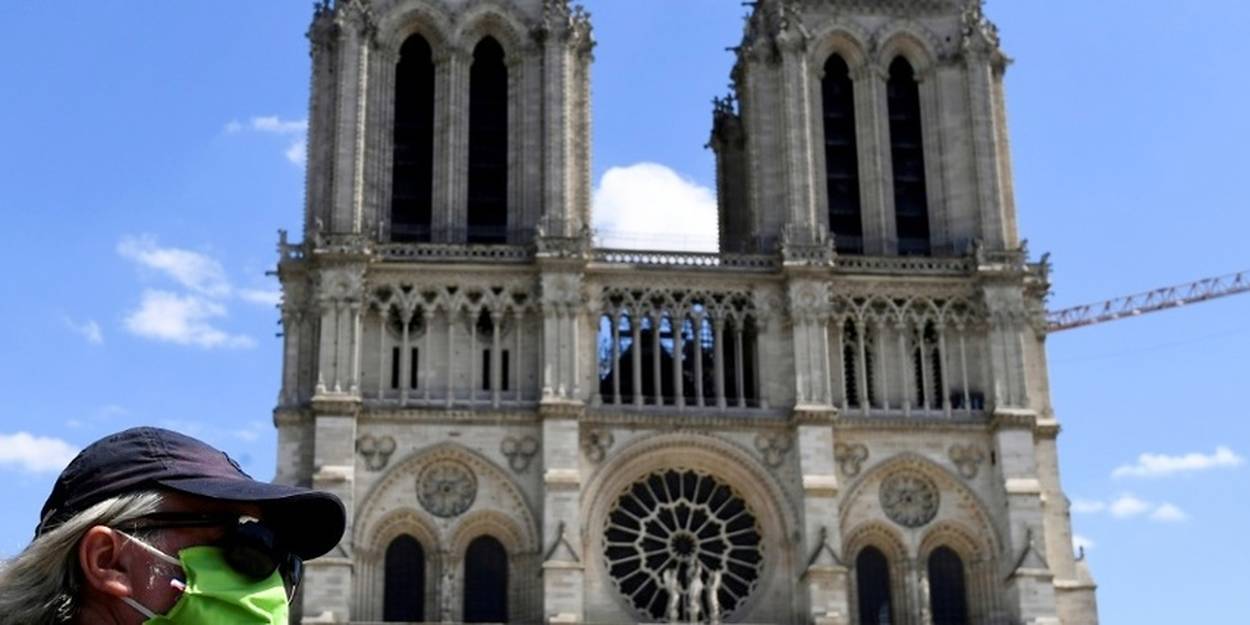
<instances>
[{"instance_id":1,"label":"dark sunglasses worn by person in green mask","mask_svg":"<svg viewBox=\"0 0 1250 625\"><path fill-rule=\"evenodd\" d=\"M236 514L155 512L119 529L145 532L188 528L221 528L225 534L212 546L221 549L231 569L252 581L268 579L278 571L286 588L286 601L295 599L304 579L304 560L282 548L274 530L256 518Z\"/></svg>"}]
</instances>

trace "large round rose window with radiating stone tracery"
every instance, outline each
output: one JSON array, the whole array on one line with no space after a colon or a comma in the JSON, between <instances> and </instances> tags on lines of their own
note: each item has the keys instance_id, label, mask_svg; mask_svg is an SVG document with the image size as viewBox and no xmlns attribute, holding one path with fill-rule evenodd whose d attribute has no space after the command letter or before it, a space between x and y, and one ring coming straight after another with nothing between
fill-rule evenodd
<instances>
[{"instance_id":1,"label":"large round rose window with radiating stone tracery","mask_svg":"<svg viewBox=\"0 0 1250 625\"><path fill-rule=\"evenodd\" d=\"M701 571L702 612L711 579L720 571L719 610L728 616L759 585L764 568L760 526L732 489L692 470L655 471L620 495L604 530L608 572L621 596L641 615L669 620L665 571L678 575L681 619L686 618L690 571Z\"/></svg>"}]
</instances>

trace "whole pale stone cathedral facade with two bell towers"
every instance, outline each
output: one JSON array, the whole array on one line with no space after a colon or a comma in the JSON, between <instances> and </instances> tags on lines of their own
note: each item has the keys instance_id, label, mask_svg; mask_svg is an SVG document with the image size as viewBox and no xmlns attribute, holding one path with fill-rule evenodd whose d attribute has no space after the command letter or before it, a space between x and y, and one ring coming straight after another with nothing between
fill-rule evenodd
<instances>
[{"instance_id":1,"label":"whole pale stone cathedral facade with two bell towers","mask_svg":"<svg viewBox=\"0 0 1250 625\"><path fill-rule=\"evenodd\" d=\"M316 6L274 420L349 528L296 621L1098 622L996 28L748 12L696 254L594 244L580 8Z\"/></svg>"}]
</instances>

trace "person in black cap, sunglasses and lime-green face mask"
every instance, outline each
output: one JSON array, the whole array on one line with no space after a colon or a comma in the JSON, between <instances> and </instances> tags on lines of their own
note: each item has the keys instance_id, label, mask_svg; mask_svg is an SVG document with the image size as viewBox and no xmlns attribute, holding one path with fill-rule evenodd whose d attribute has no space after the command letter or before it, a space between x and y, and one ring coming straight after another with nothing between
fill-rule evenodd
<instances>
[{"instance_id":1,"label":"person in black cap, sunglasses and lime-green face mask","mask_svg":"<svg viewBox=\"0 0 1250 625\"><path fill-rule=\"evenodd\" d=\"M0 625L285 624L304 560L346 522L334 495L158 428L82 450L40 519L0 568Z\"/></svg>"}]
</instances>

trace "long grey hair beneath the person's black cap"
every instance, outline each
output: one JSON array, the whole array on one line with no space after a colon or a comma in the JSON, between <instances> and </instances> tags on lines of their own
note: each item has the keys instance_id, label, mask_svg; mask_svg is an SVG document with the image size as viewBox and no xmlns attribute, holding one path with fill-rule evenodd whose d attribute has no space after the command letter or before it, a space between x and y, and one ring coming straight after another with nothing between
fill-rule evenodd
<instances>
[{"instance_id":1,"label":"long grey hair beneath the person's black cap","mask_svg":"<svg viewBox=\"0 0 1250 625\"><path fill-rule=\"evenodd\" d=\"M132 521L160 510L159 492L106 499L59 528L36 536L0 565L0 625L61 625L74 620L81 600L78 544L95 525Z\"/></svg>"}]
</instances>

